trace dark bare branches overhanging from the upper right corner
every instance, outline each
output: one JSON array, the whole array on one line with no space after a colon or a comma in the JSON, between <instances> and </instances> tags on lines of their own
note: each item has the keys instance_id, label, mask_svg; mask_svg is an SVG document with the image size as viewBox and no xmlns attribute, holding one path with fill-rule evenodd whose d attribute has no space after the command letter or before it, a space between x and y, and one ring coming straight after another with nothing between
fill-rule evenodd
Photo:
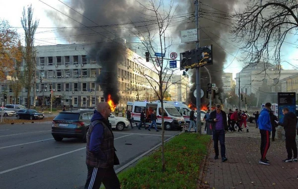
<instances>
[{"instance_id":1,"label":"dark bare branches overhanging from the upper right corner","mask_svg":"<svg viewBox=\"0 0 298 189\"><path fill-rule=\"evenodd\" d=\"M252 66L263 61L263 71L276 64L280 75L281 48L289 34L298 31L298 2L296 0L247 0L243 12L233 14L231 30L237 42L244 42L243 60Z\"/></svg>"}]
</instances>

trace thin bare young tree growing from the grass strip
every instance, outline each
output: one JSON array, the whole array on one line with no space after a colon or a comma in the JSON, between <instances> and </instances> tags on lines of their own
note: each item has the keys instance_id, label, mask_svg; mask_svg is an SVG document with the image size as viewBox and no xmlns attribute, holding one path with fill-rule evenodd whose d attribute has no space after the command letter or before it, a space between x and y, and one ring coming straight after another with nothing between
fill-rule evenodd
<instances>
[{"instance_id":1,"label":"thin bare young tree growing from the grass strip","mask_svg":"<svg viewBox=\"0 0 298 189\"><path fill-rule=\"evenodd\" d=\"M144 48L149 52L149 59L153 63L152 70L154 70L154 73L157 73L158 80L155 81L152 75L145 73L144 70L139 67L139 65L148 67L146 63L139 62L139 64L137 64L137 69L140 74L146 78L149 86L153 89L153 93L161 103L161 158L162 171L165 171L163 99L167 93L167 89L172 85L172 83L169 82L170 78L177 69L170 69L168 62L164 60L163 56L154 57L154 55L155 53L161 53L162 55L169 52L172 40L168 37L167 31L173 20L175 8L173 6L173 0L167 1L167 4L164 4L163 0L149 0L146 4L139 3L144 10L142 12L144 15L143 19L152 23L135 25L132 32L140 38ZM157 45L155 43L157 43ZM159 61L155 63L156 59ZM140 59L136 58L134 60L139 61Z\"/></svg>"}]
</instances>

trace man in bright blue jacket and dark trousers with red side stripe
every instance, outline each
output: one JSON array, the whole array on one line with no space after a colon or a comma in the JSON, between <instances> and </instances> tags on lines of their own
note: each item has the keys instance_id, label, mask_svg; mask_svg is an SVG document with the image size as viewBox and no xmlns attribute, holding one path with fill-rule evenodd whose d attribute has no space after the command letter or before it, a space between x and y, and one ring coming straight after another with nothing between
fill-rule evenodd
<instances>
[{"instance_id":1,"label":"man in bright blue jacket and dark trousers with red side stripe","mask_svg":"<svg viewBox=\"0 0 298 189\"><path fill-rule=\"evenodd\" d=\"M271 108L271 103L267 102L265 104L265 108L262 109L259 118L258 118L258 125L261 133L261 160L259 161L260 164L270 165L270 162L266 159L266 154L270 147L270 133L272 131L271 121L269 110Z\"/></svg>"}]
</instances>

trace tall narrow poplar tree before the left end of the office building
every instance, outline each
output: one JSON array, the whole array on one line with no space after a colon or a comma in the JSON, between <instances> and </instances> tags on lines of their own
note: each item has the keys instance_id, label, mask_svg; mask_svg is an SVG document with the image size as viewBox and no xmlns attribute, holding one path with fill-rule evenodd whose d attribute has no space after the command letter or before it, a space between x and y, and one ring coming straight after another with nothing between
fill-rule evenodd
<instances>
[{"instance_id":1,"label":"tall narrow poplar tree before the left end of the office building","mask_svg":"<svg viewBox=\"0 0 298 189\"><path fill-rule=\"evenodd\" d=\"M30 92L31 86L35 85L35 67L36 67L36 49L34 47L34 35L38 26L38 20L33 20L32 5L23 8L23 16L21 17L22 27L25 31L25 48L24 48L24 81L27 88L27 107L30 108ZM34 104L35 105L35 104Z\"/></svg>"}]
</instances>

